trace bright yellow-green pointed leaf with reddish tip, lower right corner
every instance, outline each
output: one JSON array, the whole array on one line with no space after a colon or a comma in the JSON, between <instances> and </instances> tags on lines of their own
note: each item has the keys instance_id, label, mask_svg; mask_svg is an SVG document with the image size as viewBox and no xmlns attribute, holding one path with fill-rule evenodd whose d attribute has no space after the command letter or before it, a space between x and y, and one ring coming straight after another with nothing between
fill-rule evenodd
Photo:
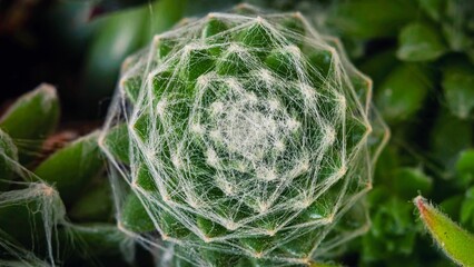
<instances>
[{"instance_id":1,"label":"bright yellow-green pointed leaf with reddish tip, lower right corner","mask_svg":"<svg viewBox=\"0 0 474 267\"><path fill-rule=\"evenodd\" d=\"M443 251L462 266L474 266L474 235L467 233L418 196L419 217Z\"/></svg>"}]
</instances>

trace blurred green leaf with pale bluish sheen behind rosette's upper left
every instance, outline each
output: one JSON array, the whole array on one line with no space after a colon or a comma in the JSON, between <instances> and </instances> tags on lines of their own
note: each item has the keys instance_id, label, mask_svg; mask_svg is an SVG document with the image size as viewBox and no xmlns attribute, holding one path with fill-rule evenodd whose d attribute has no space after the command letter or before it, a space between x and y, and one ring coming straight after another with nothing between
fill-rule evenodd
<instances>
[{"instance_id":1,"label":"blurred green leaf with pale bluish sheen behind rosette's upper left","mask_svg":"<svg viewBox=\"0 0 474 267\"><path fill-rule=\"evenodd\" d=\"M83 97L99 99L111 93L125 58L181 19L186 2L159 0L99 18L86 55Z\"/></svg>"}]
</instances>

